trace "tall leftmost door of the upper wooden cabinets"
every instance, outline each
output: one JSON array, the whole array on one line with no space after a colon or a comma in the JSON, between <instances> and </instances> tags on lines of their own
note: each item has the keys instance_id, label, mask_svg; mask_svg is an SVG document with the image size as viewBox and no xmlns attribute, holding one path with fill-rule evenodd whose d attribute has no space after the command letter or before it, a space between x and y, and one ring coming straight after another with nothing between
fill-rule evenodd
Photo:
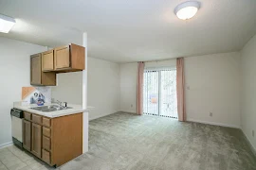
<instances>
[{"instance_id":1,"label":"tall leftmost door of the upper wooden cabinets","mask_svg":"<svg viewBox=\"0 0 256 170\"><path fill-rule=\"evenodd\" d=\"M41 54L31 56L30 67L30 84L41 85Z\"/></svg>"}]
</instances>

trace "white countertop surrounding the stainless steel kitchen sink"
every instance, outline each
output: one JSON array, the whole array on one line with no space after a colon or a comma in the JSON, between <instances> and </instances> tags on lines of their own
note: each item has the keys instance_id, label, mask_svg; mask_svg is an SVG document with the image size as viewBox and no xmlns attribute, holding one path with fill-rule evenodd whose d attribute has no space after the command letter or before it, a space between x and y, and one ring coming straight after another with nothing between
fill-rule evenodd
<instances>
[{"instance_id":1,"label":"white countertop surrounding the stainless steel kitchen sink","mask_svg":"<svg viewBox=\"0 0 256 170\"><path fill-rule=\"evenodd\" d=\"M48 106L48 105L51 105L51 104L48 103L48 104L45 104L44 106ZM76 113L80 113L80 112L86 112L86 111L94 109L94 107L88 106L86 110L83 110L81 105L73 105L73 104L68 104L67 106L71 107L72 109L43 112L43 111L39 111L39 110L31 110L30 109L30 108L33 108L33 107L38 107L36 104L23 105L22 102L14 102L13 103L13 108L15 108L15 109L25 110L27 112L40 114L40 115L50 117L50 118L61 117L61 116L64 116L64 115L76 114Z\"/></svg>"}]
</instances>

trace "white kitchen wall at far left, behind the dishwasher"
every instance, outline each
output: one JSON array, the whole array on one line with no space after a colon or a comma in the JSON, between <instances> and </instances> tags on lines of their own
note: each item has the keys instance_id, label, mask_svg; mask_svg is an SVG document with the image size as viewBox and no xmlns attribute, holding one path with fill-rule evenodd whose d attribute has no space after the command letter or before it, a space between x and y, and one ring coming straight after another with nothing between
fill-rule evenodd
<instances>
[{"instance_id":1,"label":"white kitchen wall at far left, behind the dishwasher","mask_svg":"<svg viewBox=\"0 0 256 170\"><path fill-rule=\"evenodd\" d=\"M23 86L30 86L29 56L46 47L0 37L0 147L11 142L9 110L21 100Z\"/></svg>"}]
</instances>

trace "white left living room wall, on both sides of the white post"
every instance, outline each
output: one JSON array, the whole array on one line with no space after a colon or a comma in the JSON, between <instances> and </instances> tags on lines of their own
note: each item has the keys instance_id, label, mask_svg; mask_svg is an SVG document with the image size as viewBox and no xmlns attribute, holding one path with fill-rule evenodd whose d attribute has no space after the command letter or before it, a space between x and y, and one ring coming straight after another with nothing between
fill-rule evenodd
<instances>
[{"instance_id":1,"label":"white left living room wall, on both sides of the white post","mask_svg":"<svg viewBox=\"0 0 256 170\"><path fill-rule=\"evenodd\" d=\"M119 111L119 64L88 58L89 120ZM52 88L52 98L82 105L82 72L59 74L58 86Z\"/></svg>"}]
</instances>

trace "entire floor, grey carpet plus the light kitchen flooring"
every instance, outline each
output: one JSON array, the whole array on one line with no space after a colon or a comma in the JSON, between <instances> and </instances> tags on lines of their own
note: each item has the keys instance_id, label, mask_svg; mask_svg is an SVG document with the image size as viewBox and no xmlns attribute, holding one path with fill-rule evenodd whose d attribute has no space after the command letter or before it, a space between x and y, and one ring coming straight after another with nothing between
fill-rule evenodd
<instances>
[{"instance_id":1,"label":"entire floor, grey carpet plus the light kitchen flooring","mask_svg":"<svg viewBox=\"0 0 256 170\"><path fill-rule=\"evenodd\" d=\"M54 169L11 145L0 170ZM119 112L89 123L89 151L60 170L256 170L240 129Z\"/></svg>"}]
</instances>

